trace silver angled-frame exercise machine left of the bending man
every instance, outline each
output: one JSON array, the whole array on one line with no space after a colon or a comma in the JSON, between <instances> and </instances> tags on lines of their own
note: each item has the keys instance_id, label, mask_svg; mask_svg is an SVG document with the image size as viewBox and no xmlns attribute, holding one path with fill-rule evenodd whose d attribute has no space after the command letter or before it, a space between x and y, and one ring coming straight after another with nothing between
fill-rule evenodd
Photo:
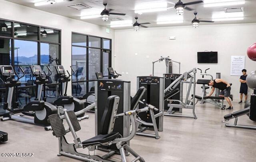
<instances>
[{"instance_id":1,"label":"silver angled-frame exercise machine left of the bending man","mask_svg":"<svg viewBox=\"0 0 256 162\"><path fill-rule=\"evenodd\" d=\"M183 100L183 84L187 83L188 84L188 91L186 94L185 100ZM193 87L192 87L193 84ZM180 87L178 87L180 85ZM195 114L195 98L192 98L192 101L189 100L190 97L190 91L192 90L192 95L194 96L195 91L196 91L196 68L193 68L192 70L189 70L188 72L184 72L181 76L179 76L176 80L174 80L165 90L164 93L167 91L170 91L171 93L167 94L164 96L164 100L168 100L170 104L168 104L168 111L167 113L164 113L165 116L176 116L176 117L189 117L189 118L194 118L197 119L196 114ZM180 92L180 100L172 100L169 99L170 97L174 96ZM176 102L176 103L172 103ZM173 108L188 108L192 109L193 116L184 116L184 115L178 115L174 114L175 111Z\"/></svg>"}]
</instances>

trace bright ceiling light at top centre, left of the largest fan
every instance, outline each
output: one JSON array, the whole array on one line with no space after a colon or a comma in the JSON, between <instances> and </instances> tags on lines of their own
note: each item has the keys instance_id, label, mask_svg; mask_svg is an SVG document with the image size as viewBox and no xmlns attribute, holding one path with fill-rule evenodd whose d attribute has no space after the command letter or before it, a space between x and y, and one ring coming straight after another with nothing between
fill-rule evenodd
<instances>
[{"instance_id":1,"label":"bright ceiling light at top centre, left of the largest fan","mask_svg":"<svg viewBox=\"0 0 256 162\"><path fill-rule=\"evenodd\" d=\"M137 6L135 6L134 13L136 14L142 14L146 12L157 12L157 11L166 11L167 8L166 2L158 2L158 3L142 3Z\"/></svg>"}]
</instances>

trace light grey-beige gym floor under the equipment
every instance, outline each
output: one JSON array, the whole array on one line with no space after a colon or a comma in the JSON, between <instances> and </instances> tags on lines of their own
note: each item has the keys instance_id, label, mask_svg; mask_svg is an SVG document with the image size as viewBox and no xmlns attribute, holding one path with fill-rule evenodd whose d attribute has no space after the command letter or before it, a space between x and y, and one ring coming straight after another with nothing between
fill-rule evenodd
<instances>
[{"instance_id":1,"label":"light grey-beige gym floor under the equipment","mask_svg":"<svg viewBox=\"0 0 256 162\"><path fill-rule=\"evenodd\" d=\"M146 162L255 162L256 130L228 128L221 123L223 116L244 108L244 104L233 102L234 110L220 110L210 104L196 104L198 119L164 116L164 131L161 138L135 136L130 146ZM191 110L184 110L190 114ZM82 130L77 134L81 140L94 136L94 114L80 122ZM234 120L228 123L233 123ZM238 124L256 125L246 115ZM2 157L1 162L75 162L65 156L57 156L58 139L52 131L41 126L16 122L0 122L0 130L8 132L8 142L0 144L0 153L34 153L34 157ZM72 136L68 134L68 142ZM86 149L78 151L87 153ZM91 152L93 153L93 152ZM121 161L115 155L112 160ZM128 161L132 156L128 156Z\"/></svg>"}]
</instances>

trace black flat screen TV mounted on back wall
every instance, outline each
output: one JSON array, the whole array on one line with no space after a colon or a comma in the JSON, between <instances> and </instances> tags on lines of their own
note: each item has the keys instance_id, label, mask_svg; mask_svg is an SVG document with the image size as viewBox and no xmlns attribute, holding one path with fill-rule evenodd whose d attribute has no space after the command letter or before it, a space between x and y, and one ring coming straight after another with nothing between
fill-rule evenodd
<instances>
[{"instance_id":1,"label":"black flat screen TV mounted on back wall","mask_svg":"<svg viewBox=\"0 0 256 162\"><path fill-rule=\"evenodd\" d=\"M197 63L218 63L218 52L197 52Z\"/></svg>"}]
</instances>

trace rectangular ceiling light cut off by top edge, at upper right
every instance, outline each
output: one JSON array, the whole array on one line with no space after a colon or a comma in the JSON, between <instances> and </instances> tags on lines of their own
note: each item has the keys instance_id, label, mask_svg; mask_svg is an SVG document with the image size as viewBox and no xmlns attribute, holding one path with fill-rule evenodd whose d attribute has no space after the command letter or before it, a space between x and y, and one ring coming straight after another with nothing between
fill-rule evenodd
<instances>
[{"instance_id":1,"label":"rectangular ceiling light cut off by top edge, at upper right","mask_svg":"<svg viewBox=\"0 0 256 162\"><path fill-rule=\"evenodd\" d=\"M232 6L245 4L245 0L204 0L204 7Z\"/></svg>"}]
</instances>

